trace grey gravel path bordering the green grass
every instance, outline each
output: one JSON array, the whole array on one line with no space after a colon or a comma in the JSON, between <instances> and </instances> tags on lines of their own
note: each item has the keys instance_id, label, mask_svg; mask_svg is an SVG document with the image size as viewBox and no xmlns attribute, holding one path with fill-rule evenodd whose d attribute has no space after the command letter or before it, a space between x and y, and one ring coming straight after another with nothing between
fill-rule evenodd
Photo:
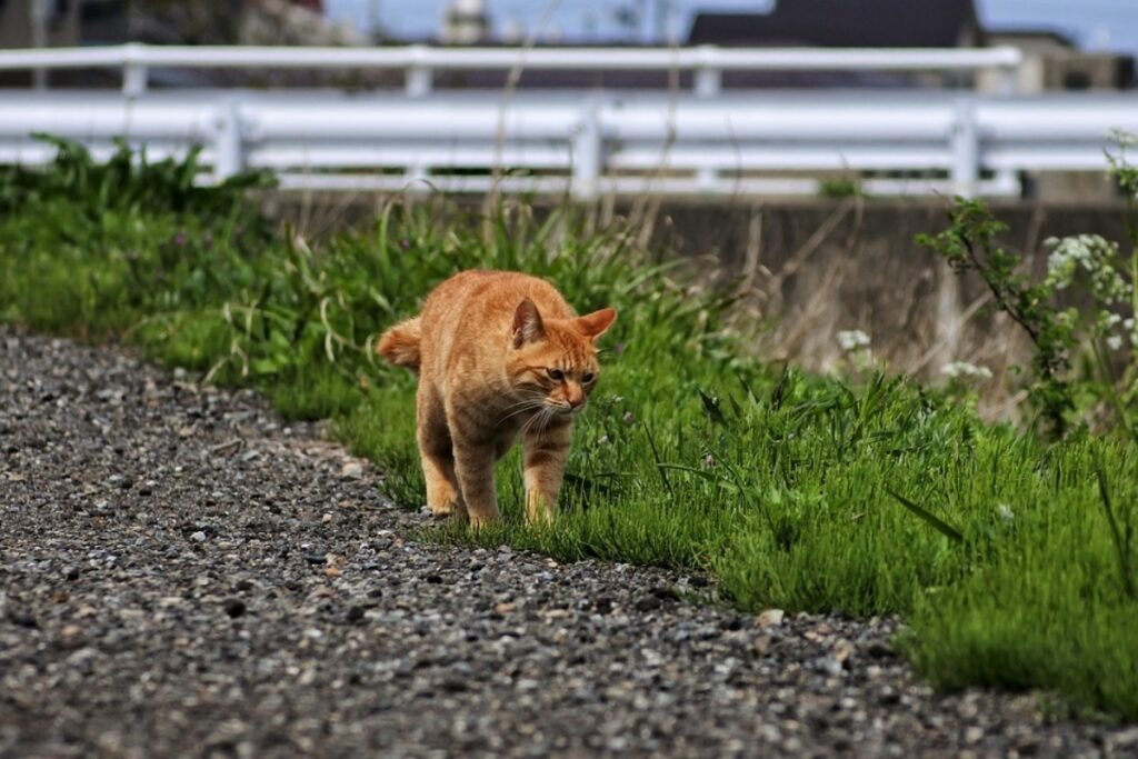
<instances>
[{"instance_id":1,"label":"grey gravel path bordering the green grass","mask_svg":"<svg viewBox=\"0 0 1138 759\"><path fill-rule=\"evenodd\" d=\"M933 694L889 620L409 538L255 395L0 328L0 756L1135 756Z\"/></svg>"}]
</instances>

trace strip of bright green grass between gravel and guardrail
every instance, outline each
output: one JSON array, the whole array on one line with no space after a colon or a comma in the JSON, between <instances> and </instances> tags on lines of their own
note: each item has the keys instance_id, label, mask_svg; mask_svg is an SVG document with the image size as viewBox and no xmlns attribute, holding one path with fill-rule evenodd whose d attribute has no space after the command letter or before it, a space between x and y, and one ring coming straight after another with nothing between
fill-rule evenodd
<instances>
[{"instance_id":1,"label":"strip of bright green grass between gravel and guardrail","mask_svg":"<svg viewBox=\"0 0 1138 759\"><path fill-rule=\"evenodd\" d=\"M432 537L709 571L743 609L899 613L904 650L940 686L1046 688L1138 719L1132 445L1046 446L902 379L765 365L691 264L572 211L388 205L315 245L271 229L244 182L206 191L192 174L74 149L44 174L0 173L0 319L125 336L289 416L331 416L418 508L414 380L372 341L456 271L547 277L583 312L620 312L563 511L523 523L512 454L504 522Z\"/></svg>"}]
</instances>

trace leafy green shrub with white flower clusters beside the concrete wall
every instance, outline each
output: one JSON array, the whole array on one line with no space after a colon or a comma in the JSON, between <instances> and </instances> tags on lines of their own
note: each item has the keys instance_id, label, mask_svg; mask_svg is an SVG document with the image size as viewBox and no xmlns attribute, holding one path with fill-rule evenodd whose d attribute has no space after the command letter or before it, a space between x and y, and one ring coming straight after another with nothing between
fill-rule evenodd
<instances>
[{"instance_id":1,"label":"leafy green shrub with white flower clusters beside the concrete wall","mask_svg":"<svg viewBox=\"0 0 1138 759\"><path fill-rule=\"evenodd\" d=\"M1021 257L996 242L1007 226L979 200L957 198L949 229L918 236L953 269L978 273L996 307L1022 329L1034 346L1028 397L1046 431L1065 437L1072 430L1116 428L1138 442L1138 167L1127 160L1133 135L1114 133L1116 151L1107 155L1110 174L1127 198L1129 249L1098 234L1049 238L1047 274L1037 283L1017 272ZM1067 304L1078 305L1067 305ZM945 368L951 380L982 378L971 365ZM987 371L987 370L984 370Z\"/></svg>"}]
</instances>

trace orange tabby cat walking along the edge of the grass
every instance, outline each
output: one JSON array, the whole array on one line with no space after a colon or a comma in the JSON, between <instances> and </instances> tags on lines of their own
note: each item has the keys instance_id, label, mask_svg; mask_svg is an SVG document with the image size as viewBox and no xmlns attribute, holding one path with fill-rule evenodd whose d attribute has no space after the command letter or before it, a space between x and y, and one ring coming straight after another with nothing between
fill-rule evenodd
<instances>
[{"instance_id":1,"label":"orange tabby cat walking along the edge of the grass","mask_svg":"<svg viewBox=\"0 0 1138 759\"><path fill-rule=\"evenodd\" d=\"M551 519L572 422L596 387L594 341L617 312L577 316L556 288L514 272L469 271L377 350L419 372L419 452L427 504L485 525L498 515L494 463L521 434L526 513Z\"/></svg>"}]
</instances>

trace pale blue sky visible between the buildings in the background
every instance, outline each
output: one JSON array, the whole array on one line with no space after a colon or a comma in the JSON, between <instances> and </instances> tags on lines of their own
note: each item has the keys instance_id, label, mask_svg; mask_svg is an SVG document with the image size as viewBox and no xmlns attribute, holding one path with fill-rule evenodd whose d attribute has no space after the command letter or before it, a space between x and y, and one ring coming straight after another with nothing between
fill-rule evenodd
<instances>
[{"instance_id":1,"label":"pale blue sky visible between the buildings in the background","mask_svg":"<svg viewBox=\"0 0 1138 759\"><path fill-rule=\"evenodd\" d=\"M793 0L783 0L792 2ZM857 2L857 0L849 0ZM659 28L653 10L671 5L671 27L687 35L696 10L758 11L770 0L485 0L494 32L527 35L543 28L546 39L572 41L626 38L621 8L646 8L642 38ZM914 0L916 6L920 0ZM975 0L989 27L1044 27L1064 32L1088 50L1138 53L1138 0ZM361 31L371 19L407 39L428 39L438 31L448 0L324 0L328 15ZM550 8L552 7L552 13ZM551 41L552 41L551 39Z\"/></svg>"}]
</instances>

